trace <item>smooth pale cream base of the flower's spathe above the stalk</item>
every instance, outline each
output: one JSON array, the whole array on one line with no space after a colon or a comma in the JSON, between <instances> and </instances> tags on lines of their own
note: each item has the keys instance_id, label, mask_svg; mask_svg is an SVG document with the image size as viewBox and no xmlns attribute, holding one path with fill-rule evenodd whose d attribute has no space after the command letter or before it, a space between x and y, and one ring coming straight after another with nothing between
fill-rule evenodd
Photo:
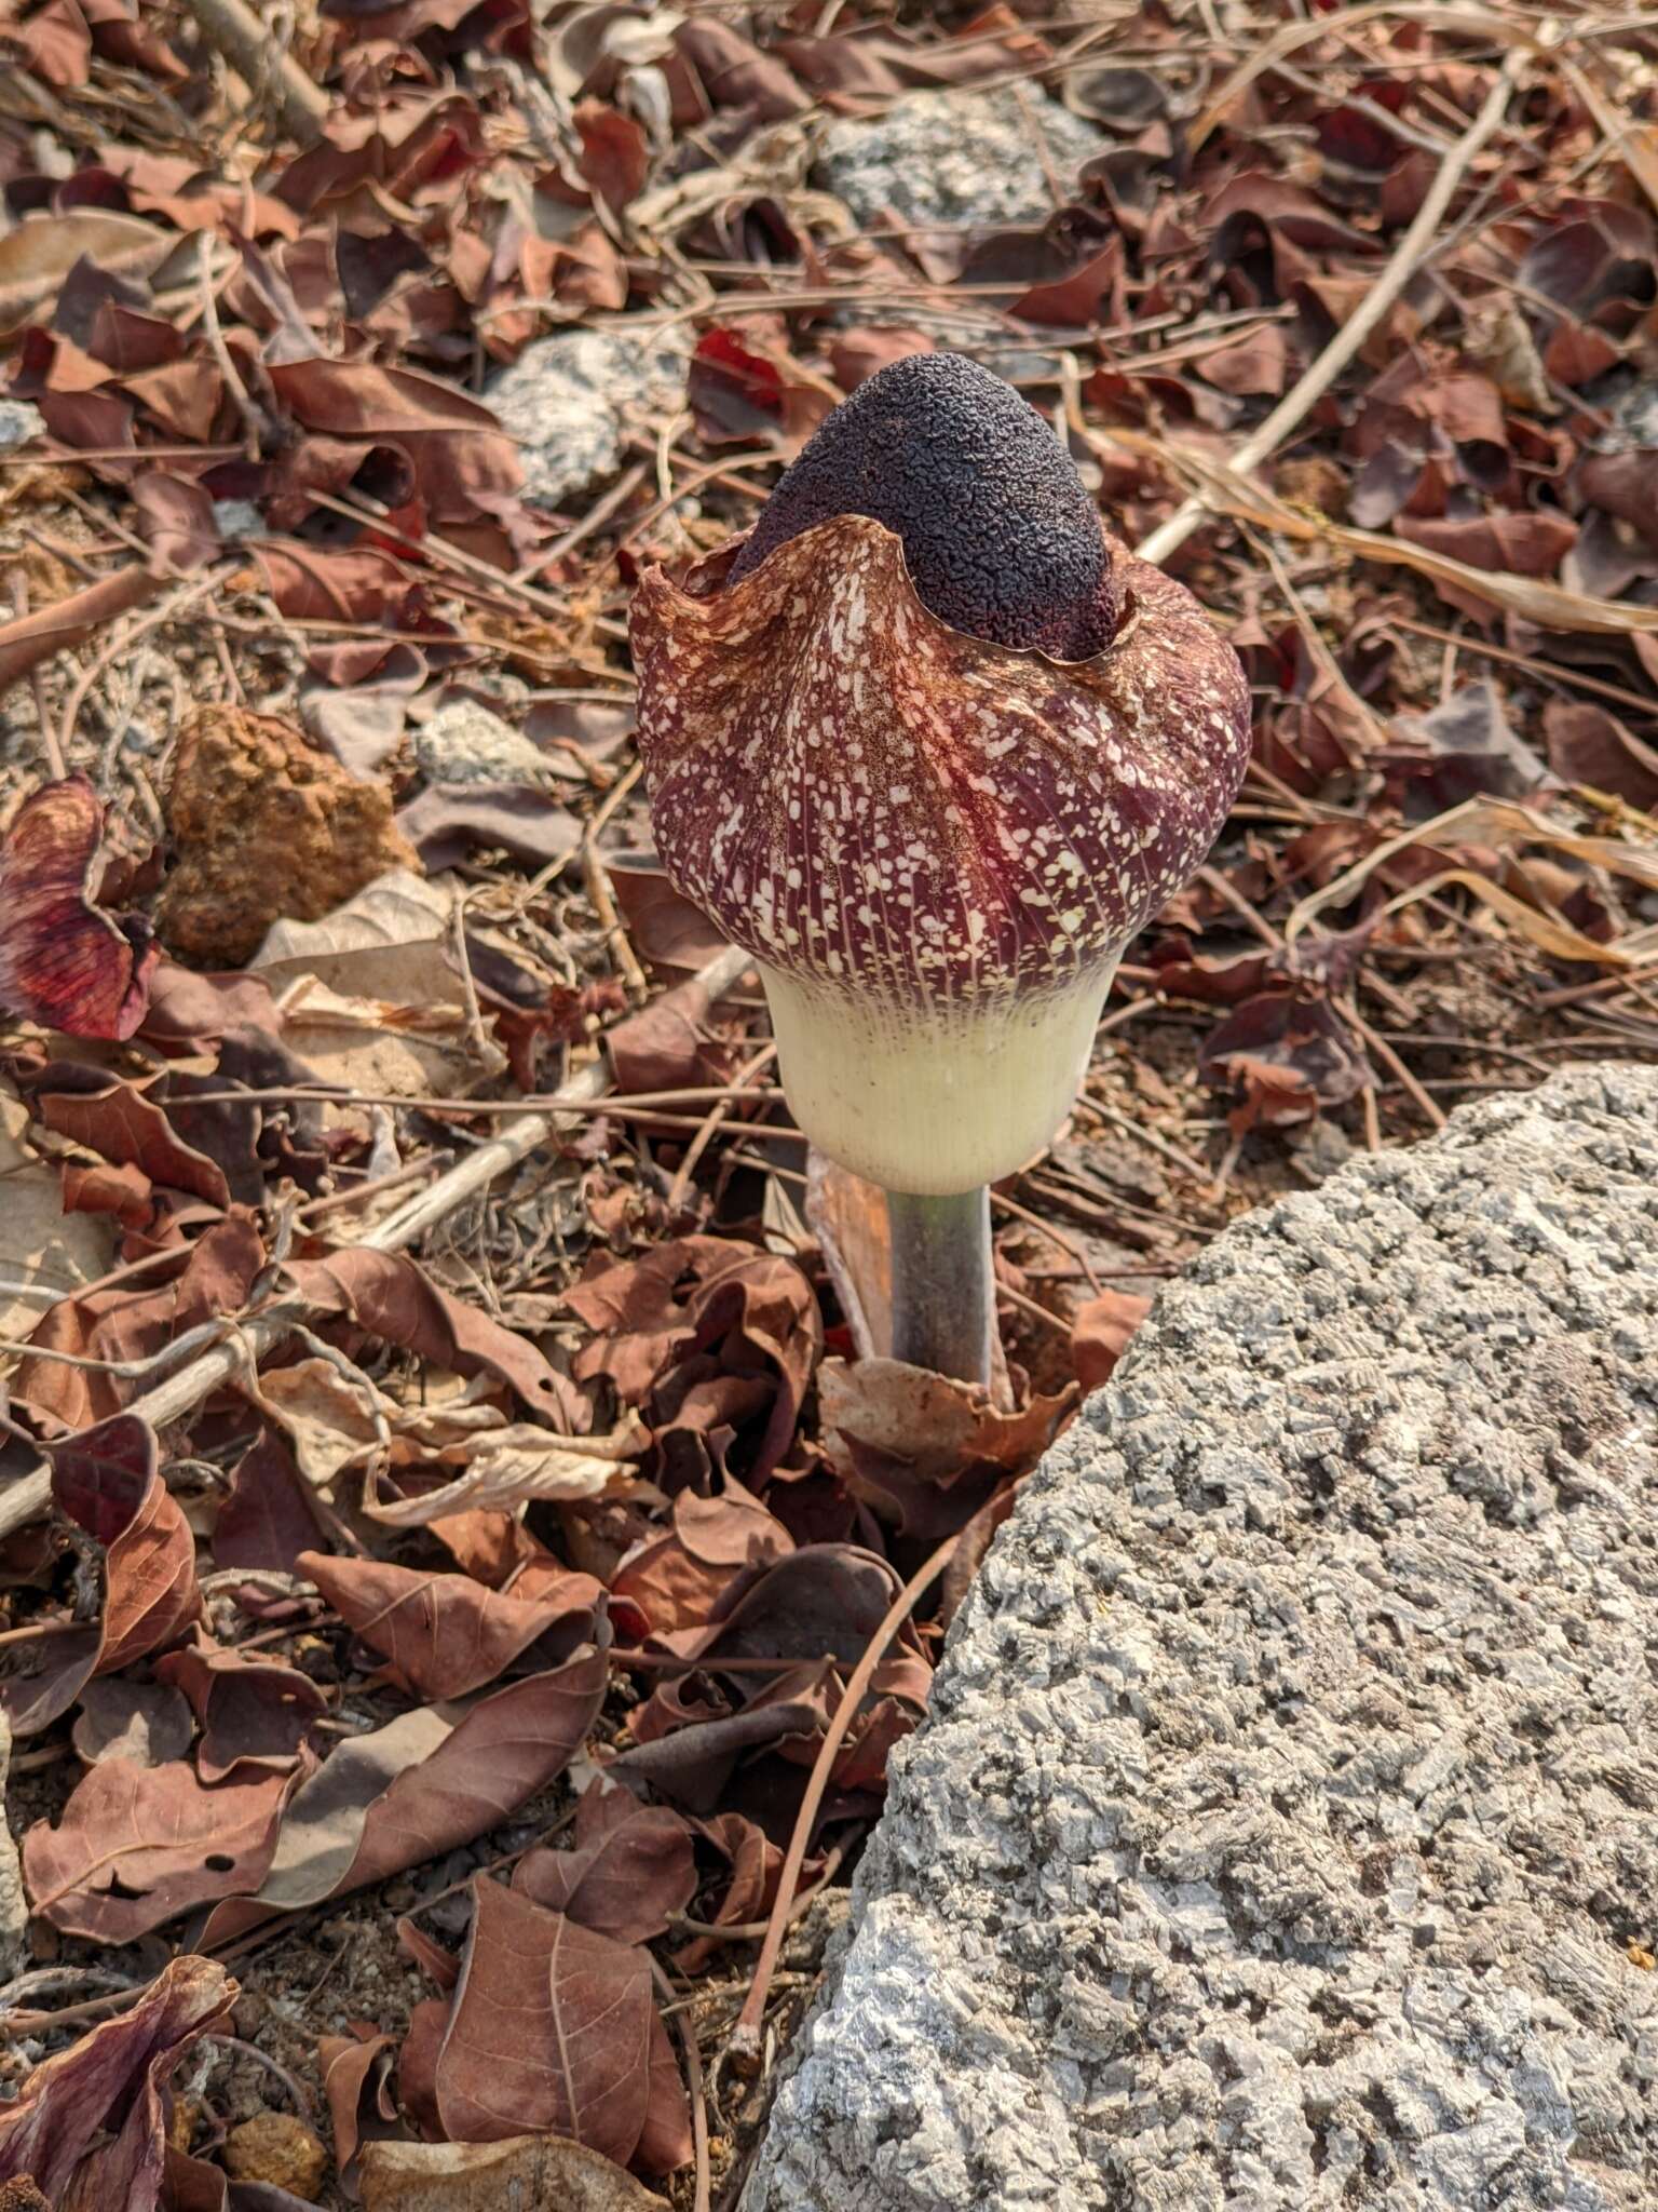
<instances>
[{"instance_id":1,"label":"smooth pale cream base of the flower's spathe above the stalk","mask_svg":"<svg viewBox=\"0 0 1658 2212\"><path fill-rule=\"evenodd\" d=\"M922 1013L760 964L800 1128L864 1181L922 1197L995 1183L1043 1150L1081 1088L1114 971L1112 958L1068 991Z\"/></svg>"}]
</instances>

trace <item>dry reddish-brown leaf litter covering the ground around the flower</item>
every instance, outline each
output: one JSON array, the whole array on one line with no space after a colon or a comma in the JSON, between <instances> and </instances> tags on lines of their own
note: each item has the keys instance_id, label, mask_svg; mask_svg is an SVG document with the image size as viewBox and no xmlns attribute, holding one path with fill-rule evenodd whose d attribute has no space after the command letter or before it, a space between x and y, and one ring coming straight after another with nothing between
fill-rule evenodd
<instances>
[{"instance_id":1,"label":"dry reddish-brown leaf litter covering the ground around the flower","mask_svg":"<svg viewBox=\"0 0 1658 2212\"><path fill-rule=\"evenodd\" d=\"M710 2212L765 2108L723 2062L798 2022L1158 1283L1658 1046L1658 46L393 0L250 86L214 18L0 11L0 2181ZM878 212L829 190L829 124L1008 86L1046 215L906 219L902 142ZM553 495L493 403L548 343L608 349ZM1256 699L993 1194L988 1398L884 1356L882 1212L654 863L623 650L648 562L933 345Z\"/></svg>"}]
</instances>

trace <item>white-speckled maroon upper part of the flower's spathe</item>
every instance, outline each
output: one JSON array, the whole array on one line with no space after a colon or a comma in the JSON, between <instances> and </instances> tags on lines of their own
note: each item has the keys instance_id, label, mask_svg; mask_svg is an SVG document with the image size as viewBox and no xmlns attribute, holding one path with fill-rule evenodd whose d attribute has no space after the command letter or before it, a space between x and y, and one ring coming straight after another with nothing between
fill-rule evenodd
<instances>
[{"instance_id":1,"label":"white-speckled maroon upper part of the flower's spathe","mask_svg":"<svg viewBox=\"0 0 1658 2212\"><path fill-rule=\"evenodd\" d=\"M1238 796L1249 688L1192 593L1114 549L1090 661L953 630L902 542L838 515L632 604L639 752L674 885L745 951L944 1013L1066 989L1189 880Z\"/></svg>"}]
</instances>

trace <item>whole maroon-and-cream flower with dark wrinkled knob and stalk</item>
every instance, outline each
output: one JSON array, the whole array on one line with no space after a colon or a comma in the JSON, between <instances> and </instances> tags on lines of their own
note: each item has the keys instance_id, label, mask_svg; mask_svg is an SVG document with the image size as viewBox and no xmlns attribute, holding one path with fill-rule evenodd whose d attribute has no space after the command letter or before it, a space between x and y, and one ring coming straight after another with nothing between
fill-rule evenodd
<instances>
[{"instance_id":1,"label":"whole maroon-and-cream flower with dark wrinkled knob and stalk","mask_svg":"<svg viewBox=\"0 0 1658 2212\"><path fill-rule=\"evenodd\" d=\"M957 354L869 378L747 538L652 568L632 648L663 865L754 953L805 1133L886 1190L893 1352L984 1378L988 1183L1231 807L1238 655Z\"/></svg>"}]
</instances>

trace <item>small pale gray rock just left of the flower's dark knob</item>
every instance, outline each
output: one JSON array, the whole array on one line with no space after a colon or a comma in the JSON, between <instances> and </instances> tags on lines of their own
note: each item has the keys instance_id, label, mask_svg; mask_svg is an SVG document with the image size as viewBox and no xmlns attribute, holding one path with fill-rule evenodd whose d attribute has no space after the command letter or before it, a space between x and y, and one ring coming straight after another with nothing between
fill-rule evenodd
<instances>
[{"instance_id":1,"label":"small pale gray rock just left of the flower's dark knob","mask_svg":"<svg viewBox=\"0 0 1658 2212\"><path fill-rule=\"evenodd\" d=\"M502 429L517 438L524 491L557 507L621 467L630 427L654 429L685 405L683 330L632 334L559 330L524 347L489 389Z\"/></svg>"}]
</instances>

